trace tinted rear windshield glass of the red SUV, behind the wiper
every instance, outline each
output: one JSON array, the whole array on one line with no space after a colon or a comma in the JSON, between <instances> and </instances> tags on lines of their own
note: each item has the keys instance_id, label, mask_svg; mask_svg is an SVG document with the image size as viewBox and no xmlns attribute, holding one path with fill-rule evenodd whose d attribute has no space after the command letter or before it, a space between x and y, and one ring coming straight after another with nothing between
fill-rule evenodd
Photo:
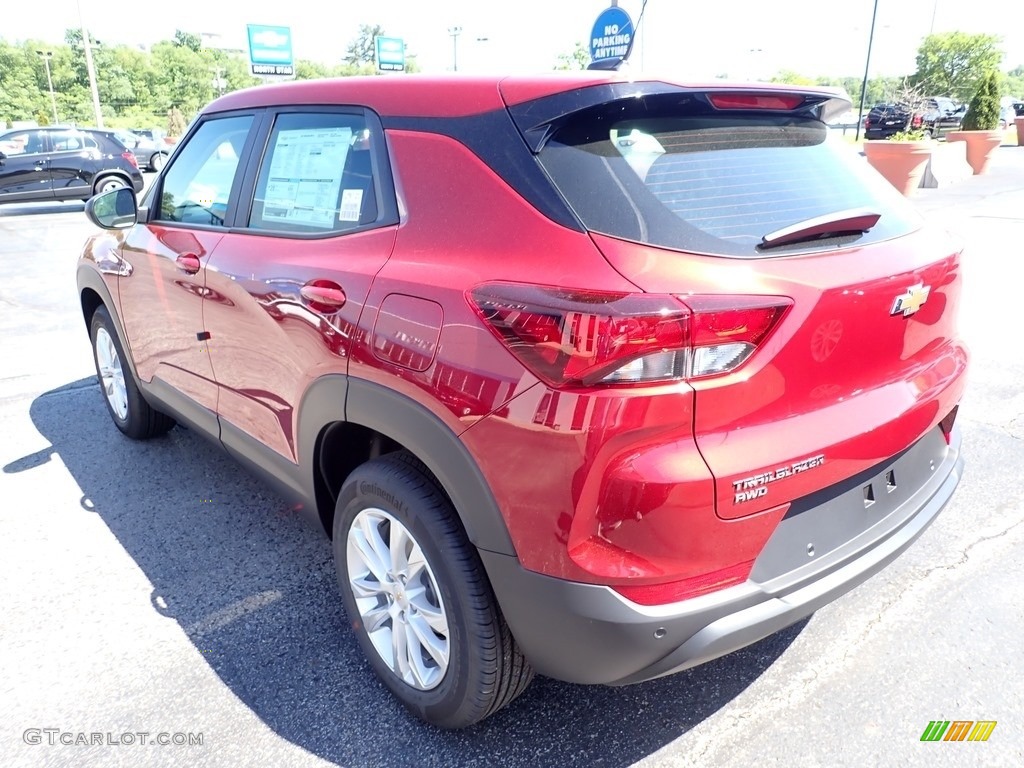
<instances>
[{"instance_id":1,"label":"tinted rear windshield glass of the red SUV, behind the wiper","mask_svg":"<svg viewBox=\"0 0 1024 768\"><path fill-rule=\"evenodd\" d=\"M902 196L818 120L674 115L645 101L579 113L540 154L592 231L697 253L758 257L861 245L920 225ZM882 218L864 234L760 247L764 236L778 229L856 209Z\"/></svg>"}]
</instances>

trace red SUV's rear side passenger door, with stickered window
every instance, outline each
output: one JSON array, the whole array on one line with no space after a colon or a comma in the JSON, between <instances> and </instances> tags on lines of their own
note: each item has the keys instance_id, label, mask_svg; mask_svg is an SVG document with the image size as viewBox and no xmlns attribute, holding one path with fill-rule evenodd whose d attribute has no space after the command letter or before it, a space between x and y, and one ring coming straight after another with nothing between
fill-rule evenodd
<instances>
[{"instance_id":1,"label":"red SUV's rear side passenger door, with stickered window","mask_svg":"<svg viewBox=\"0 0 1024 768\"><path fill-rule=\"evenodd\" d=\"M205 325L224 444L295 464L299 401L347 371L398 213L376 116L303 108L267 121L247 207L209 263Z\"/></svg>"}]
</instances>

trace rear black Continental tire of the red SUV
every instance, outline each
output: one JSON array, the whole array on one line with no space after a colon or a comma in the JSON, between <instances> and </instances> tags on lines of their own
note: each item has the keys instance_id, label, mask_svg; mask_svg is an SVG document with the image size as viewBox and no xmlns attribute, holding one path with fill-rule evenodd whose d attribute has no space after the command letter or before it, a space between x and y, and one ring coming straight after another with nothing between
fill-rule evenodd
<instances>
[{"instance_id":1,"label":"rear black Continental tire of the red SUV","mask_svg":"<svg viewBox=\"0 0 1024 768\"><path fill-rule=\"evenodd\" d=\"M441 671L440 665L435 666L432 672L440 675L439 682L429 689L407 682L391 669L374 645L362 621L365 614L356 604L349 570L349 551L353 546L349 532L357 517L359 522L353 534L356 537L364 530L361 524L367 516L379 513L386 513L383 517L393 518L404 526L401 536L411 537L426 562L426 567L419 571L427 574L418 577L423 579L421 584L436 584L439 593L438 599L430 586L421 589L421 594L430 598L432 606L439 606L437 610L446 618L447 629L446 668ZM381 525L376 527L375 523L374 529L387 531L388 541L394 542L391 537L393 523ZM466 538L452 503L437 481L412 455L399 452L375 459L356 468L345 480L334 518L334 558L345 611L367 660L388 689L417 717L440 728L465 728L498 712L529 685L534 670L502 616L475 548ZM365 562L357 554L352 560L356 570ZM361 581L366 583L383 584L373 579L369 570L365 575ZM399 579L401 587L398 587ZM392 581L390 568L384 581L397 589L408 586L400 577ZM408 584L412 585L413 581ZM412 592L410 589L409 594ZM380 593L375 597L364 594L361 599L365 610L368 603L373 603L379 606L373 610L386 612L392 605L400 610L398 597L407 599L401 593L397 596ZM408 610L410 615L415 615L415 608ZM381 631L389 631L384 625L387 620L378 623ZM393 627L392 615L390 628ZM437 638L443 635L438 633ZM418 650L425 663L431 660L423 648Z\"/></svg>"}]
</instances>

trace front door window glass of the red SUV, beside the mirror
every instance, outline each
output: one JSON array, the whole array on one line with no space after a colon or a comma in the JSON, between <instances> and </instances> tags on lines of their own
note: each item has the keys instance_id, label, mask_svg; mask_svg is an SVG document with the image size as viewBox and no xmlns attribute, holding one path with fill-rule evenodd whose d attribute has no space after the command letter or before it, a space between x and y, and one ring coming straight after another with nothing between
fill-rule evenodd
<instances>
[{"instance_id":1,"label":"front door window glass of the red SUV, beside the mirror","mask_svg":"<svg viewBox=\"0 0 1024 768\"><path fill-rule=\"evenodd\" d=\"M163 178L156 218L224 226L251 115L208 120L183 145Z\"/></svg>"}]
</instances>

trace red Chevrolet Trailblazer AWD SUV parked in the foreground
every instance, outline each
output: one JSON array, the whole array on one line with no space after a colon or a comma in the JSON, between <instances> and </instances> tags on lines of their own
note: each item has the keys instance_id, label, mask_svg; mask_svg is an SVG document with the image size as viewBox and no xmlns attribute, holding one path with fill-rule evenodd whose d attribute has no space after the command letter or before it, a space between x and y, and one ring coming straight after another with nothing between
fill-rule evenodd
<instances>
[{"instance_id":1,"label":"red Chevrolet Trailblazer AWD SUV parked in the foreground","mask_svg":"<svg viewBox=\"0 0 1024 768\"><path fill-rule=\"evenodd\" d=\"M223 96L78 266L115 424L333 538L369 664L462 727L763 638L949 501L961 256L827 89L348 78Z\"/></svg>"}]
</instances>

